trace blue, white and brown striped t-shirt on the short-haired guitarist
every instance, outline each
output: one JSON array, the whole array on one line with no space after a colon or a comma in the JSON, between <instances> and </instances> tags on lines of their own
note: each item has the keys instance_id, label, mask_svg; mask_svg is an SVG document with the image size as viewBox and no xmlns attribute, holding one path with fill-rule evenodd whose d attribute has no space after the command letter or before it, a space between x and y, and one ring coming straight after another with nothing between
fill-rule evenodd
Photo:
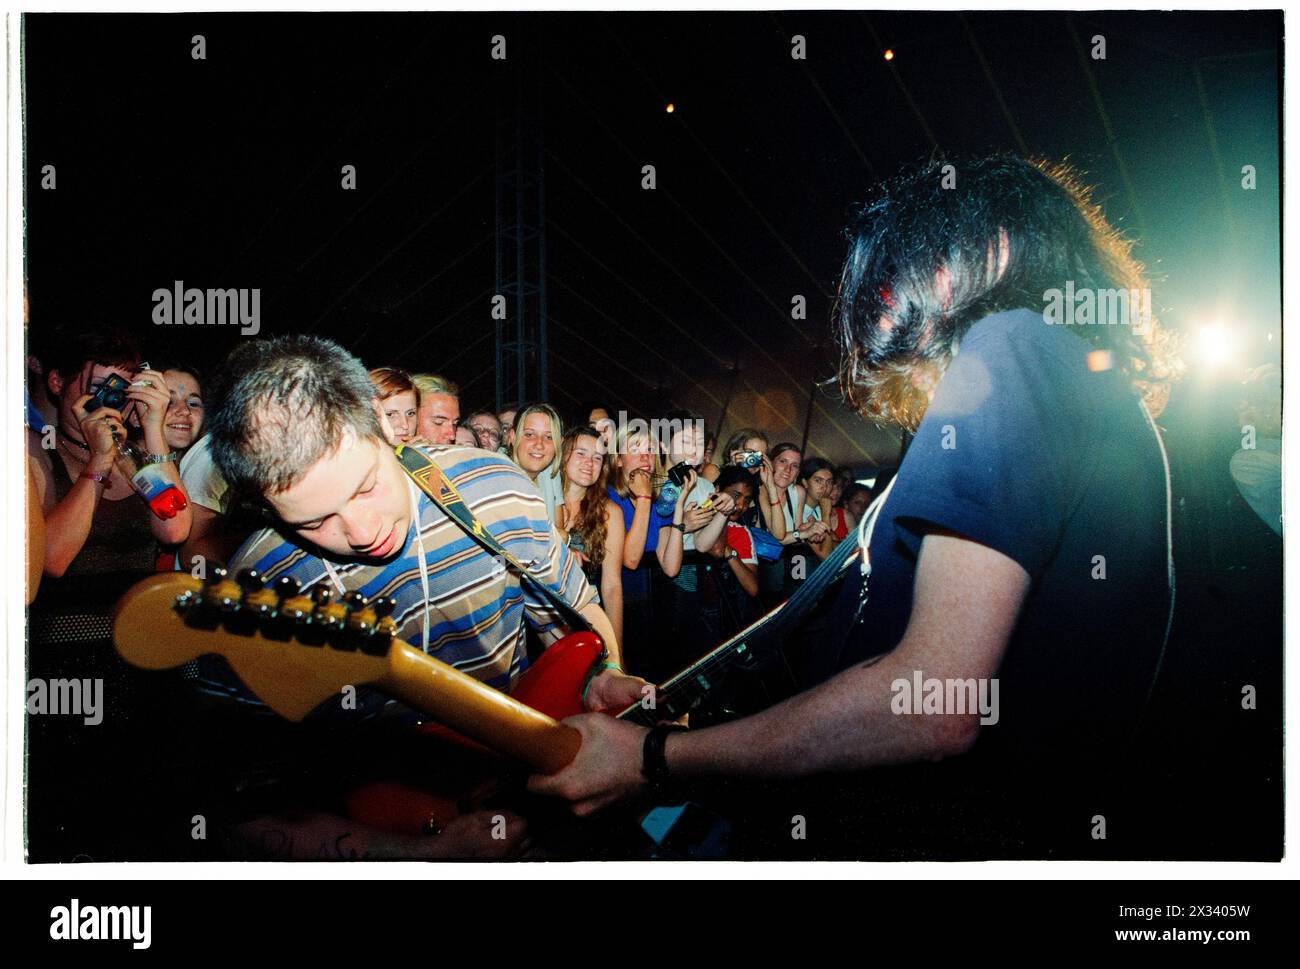
<instances>
[{"instance_id":1,"label":"blue, white and brown striped t-shirt on the short-haired guitarist","mask_svg":"<svg viewBox=\"0 0 1300 969\"><path fill-rule=\"evenodd\" d=\"M408 445L411 446L411 445ZM508 458L460 445L421 445L465 505L540 581L575 609L595 601L578 561L569 554L537 489ZM404 473L404 472L403 472ZM523 583L464 533L422 492L420 535L429 579L429 646L442 662L508 692L528 666L524 620L551 643L567 630L532 583ZM424 637L424 592L415 528L402 554L385 564L333 563L347 592L396 601L398 636L417 649ZM289 575L303 587L335 589L324 561L274 529L254 535L230 562L231 574L256 568L268 581Z\"/></svg>"}]
</instances>

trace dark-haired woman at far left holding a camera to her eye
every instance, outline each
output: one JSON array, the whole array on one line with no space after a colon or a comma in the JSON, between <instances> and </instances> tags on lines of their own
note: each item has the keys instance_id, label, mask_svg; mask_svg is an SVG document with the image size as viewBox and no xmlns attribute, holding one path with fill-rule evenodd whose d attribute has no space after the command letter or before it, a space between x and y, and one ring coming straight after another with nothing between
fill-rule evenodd
<instances>
[{"instance_id":1,"label":"dark-haired woman at far left holding a camera to her eye","mask_svg":"<svg viewBox=\"0 0 1300 969\"><path fill-rule=\"evenodd\" d=\"M122 592L153 571L157 545L183 541L191 523L190 507L173 518L155 515L116 460L117 445L138 415L138 444L159 458L164 477L179 485L176 460L165 457L173 447L164 375L140 369L130 337L107 328L61 333L49 347L43 363L57 420L48 432L27 434L32 501L46 528L44 577L27 614L26 671L29 680L84 682L87 689L98 682L98 719L27 718L29 790L60 792L44 797L42 809L27 817L27 838L40 845L31 860L47 862L86 852L78 819L87 810L95 813L101 832L91 844L109 851L126 839L139 823L139 792L162 770L160 737L173 736L168 731L176 730L185 706L177 676L143 674L122 662L113 649L109 617ZM125 403L87 411L110 376L130 384ZM172 440L179 438L173 433ZM87 728L88 722L96 726ZM124 750L147 756L124 757Z\"/></svg>"}]
</instances>

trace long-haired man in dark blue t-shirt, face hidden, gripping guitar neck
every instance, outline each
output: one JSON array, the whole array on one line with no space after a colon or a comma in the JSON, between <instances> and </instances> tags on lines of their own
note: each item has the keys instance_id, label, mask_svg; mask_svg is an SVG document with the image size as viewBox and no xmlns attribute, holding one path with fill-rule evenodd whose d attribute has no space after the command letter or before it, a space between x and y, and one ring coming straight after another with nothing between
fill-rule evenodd
<instances>
[{"instance_id":1,"label":"long-haired man in dark blue t-shirt, face hidden, gripping guitar neck","mask_svg":"<svg viewBox=\"0 0 1300 969\"><path fill-rule=\"evenodd\" d=\"M909 825L928 857L1095 852L1108 761L1171 620L1167 467L1143 398L1158 414L1173 364L1153 320L1054 325L1044 300L1067 284L1147 285L1069 172L992 157L958 165L953 187L932 161L885 185L850 230L841 386L915 440L822 637L838 672L707 730L571 718L576 760L530 788L590 814L664 779L803 778L774 812L770 840L788 849L807 816L819 857L876 853ZM807 779L863 769L859 799L898 795L919 777L904 771L928 787L898 795L889 825L826 822L832 801Z\"/></svg>"}]
</instances>

